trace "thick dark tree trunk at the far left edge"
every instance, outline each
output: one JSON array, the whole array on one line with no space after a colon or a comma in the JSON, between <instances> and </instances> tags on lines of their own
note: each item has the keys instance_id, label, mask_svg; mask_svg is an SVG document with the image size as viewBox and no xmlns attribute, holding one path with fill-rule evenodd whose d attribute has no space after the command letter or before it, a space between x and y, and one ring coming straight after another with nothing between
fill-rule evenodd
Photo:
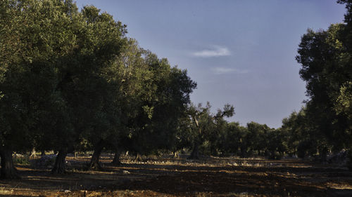
<instances>
[{"instance_id":1,"label":"thick dark tree trunk at the far left edge","mask_svg":"<svg viewBox=\"0 0 352 197\"><path fill-rule=\"evenodd\" d=\"M15 165L13 165L12 151L1 149L1 179L20 179L17 174Z\"/></svg>"}]
</instances>

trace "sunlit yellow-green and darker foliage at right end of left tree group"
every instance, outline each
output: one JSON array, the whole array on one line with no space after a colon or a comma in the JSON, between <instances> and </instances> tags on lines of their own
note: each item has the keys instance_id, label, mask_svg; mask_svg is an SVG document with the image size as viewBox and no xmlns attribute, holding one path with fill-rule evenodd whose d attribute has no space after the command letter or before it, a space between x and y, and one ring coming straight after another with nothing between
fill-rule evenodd
<instances>
[{"instance_id":1,"label":"sunlit yellow-green and darker foliage at right end of left tree group","mask_svg":"<svg viewBox=\"0 0 352 197\"><path fill-rule=\"evenodd\" d=\"M122 82L120 129L125 130L117 146L139 154L170 149L196 83L187 71L170 67L168 60L139 48L133 39L115 63Z\"/></svg>"}]
</instances>

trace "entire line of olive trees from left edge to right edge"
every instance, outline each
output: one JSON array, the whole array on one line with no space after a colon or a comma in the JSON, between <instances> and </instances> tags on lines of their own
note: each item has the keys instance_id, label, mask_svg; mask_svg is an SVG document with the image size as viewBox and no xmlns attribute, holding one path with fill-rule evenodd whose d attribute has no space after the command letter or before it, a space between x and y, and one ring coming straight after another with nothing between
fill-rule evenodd
<instances>
[{"instance_id":1,"label":"entire line of olive trees from left edge to right edge","mask_svg":"<svg viewBox=\"0 0 352 197\"><path fill-rule=\"evenodd\" d=\"M78 10L66 0L0 3L1 178L19 178L12 154L57 152L53 173L65 157L93 150L89 168L99 170L104 149L135 155L177 153L281 158L318 155L352 147L352 1L345 22L301 38L309 100L282 121L282 128L229 123L234 107L214 114L210 104L191 104L196 82L126 36L127 27L94 6ZM351 151L350 151L351 153ZM351 157L352 158L352 157ZM117 161L117 160L116 160Z\"/></svg>"}]
</instances>

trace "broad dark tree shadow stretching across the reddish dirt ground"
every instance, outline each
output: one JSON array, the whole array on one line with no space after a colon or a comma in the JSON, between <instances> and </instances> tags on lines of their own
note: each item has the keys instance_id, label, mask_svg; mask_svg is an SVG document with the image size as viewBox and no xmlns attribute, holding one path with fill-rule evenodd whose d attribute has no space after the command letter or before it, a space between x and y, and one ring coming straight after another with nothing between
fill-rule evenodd
<instances>
[{"instance_id":1,"label":"broad dark tree shadow stretching across the reddish dirt ground","mask_svg":"<svg viewBox=\"0 0 352 197\"><path fill-rule=\"evenodd\" d=\"M33 190L155 191L189 196L195 193L248 193L262 196L351 196L351 189L333 189L327 182L346 179L352 172L341 168L161 165L103 163L104 170L71 171L51 175L49 170L20 168L23 179L0 181L0 186ZM339 180L340 179L340 180ZM237 195L236 194L236 195Z\"/></svg>"}]
</instances>

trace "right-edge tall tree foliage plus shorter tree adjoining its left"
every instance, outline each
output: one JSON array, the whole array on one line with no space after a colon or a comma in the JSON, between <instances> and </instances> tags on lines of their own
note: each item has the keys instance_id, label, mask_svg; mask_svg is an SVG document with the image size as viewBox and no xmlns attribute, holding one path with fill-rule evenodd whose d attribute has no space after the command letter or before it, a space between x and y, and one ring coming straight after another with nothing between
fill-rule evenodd
<instances>
[{"instance_id":1,"label":"right-edge tall tree foliage plus shorter tree adjoining its left","mask_svg":"<svg viewBox=\"0 0 352 197\"><path fill-rule=\"evenodd\" d=\"M329 151L351 149L351 1L346 4L346 24L327 30L308 29L301 38L296 60L306 81L306 107L282 121L290 154L303 158L319 155L325 161Z\"/></svg>"}]
</instances>

